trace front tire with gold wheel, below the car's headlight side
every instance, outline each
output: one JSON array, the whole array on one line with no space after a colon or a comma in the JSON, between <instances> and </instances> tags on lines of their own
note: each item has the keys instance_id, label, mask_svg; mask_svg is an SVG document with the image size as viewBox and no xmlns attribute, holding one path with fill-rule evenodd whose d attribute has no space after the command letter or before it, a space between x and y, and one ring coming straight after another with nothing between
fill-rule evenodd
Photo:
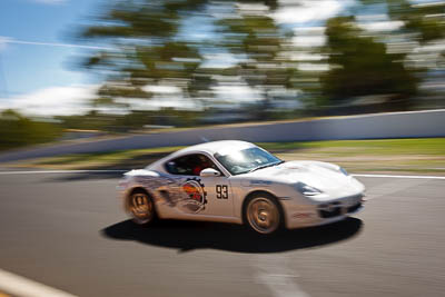
<instances>
[{"instance_id":1,"label":"front tire with gold wheel, below the car's headlight side","mask_svg":"<svg viewBox=\"0 0 445 297\"><path fill-rule=\"evenodd\" d=\"M244 211L244 221L257 234L271 235L283 225L283 211L274 196L257 194L248 198Z\"/></svg>"}]
</instances>

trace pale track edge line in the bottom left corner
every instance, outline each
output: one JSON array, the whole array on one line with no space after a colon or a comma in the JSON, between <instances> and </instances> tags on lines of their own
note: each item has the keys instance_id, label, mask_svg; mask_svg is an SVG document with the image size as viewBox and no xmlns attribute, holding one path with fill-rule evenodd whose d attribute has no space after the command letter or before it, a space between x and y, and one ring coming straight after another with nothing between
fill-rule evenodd
<instances>
[{"instance_id":1,"label":"pale track edge line in the bottom left corner","mask_svg":"<svg viewBox=\"0 0 445 297\"><path fill-rule=\"evenodd\" d=\"M0 290L26 297L76 297L24 277L0 269Z\"/></svg>"}]
</instances>

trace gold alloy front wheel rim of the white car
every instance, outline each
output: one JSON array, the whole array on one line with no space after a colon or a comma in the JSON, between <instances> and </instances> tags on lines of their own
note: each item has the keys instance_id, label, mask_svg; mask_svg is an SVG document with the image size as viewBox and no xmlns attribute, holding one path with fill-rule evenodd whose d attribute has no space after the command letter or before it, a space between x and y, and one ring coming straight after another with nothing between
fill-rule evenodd
<instances>
[{"instance_id":1,"label":"gold alloy front wheel rim of the white car","mask_svg":"<svg viewBox=\"0 0 445 297\"><path fill-rule=\"evenodd\" d=\"M271 234L279 227L278 207L269 198L254 198L247 205L247 220L257 232Z\"/></svg>"}]
</instances>

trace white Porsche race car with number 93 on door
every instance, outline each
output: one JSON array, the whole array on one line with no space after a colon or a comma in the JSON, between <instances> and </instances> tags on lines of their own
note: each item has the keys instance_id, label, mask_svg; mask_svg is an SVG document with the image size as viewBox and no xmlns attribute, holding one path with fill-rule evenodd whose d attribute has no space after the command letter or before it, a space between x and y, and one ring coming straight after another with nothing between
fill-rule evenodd
<instances>
[{"instance_id":1,"label":"white Porsche race car with number 93 on door","mask_svg":"<svg viewBox=\"0 0 445 297\"><path fill-rule=\"evenodd\" d=\"M246 141L205 142L125 174L118 188L137 224L189 219L244 224L268 235L342 220L365 187L322 161L284 161Z\"/></svg>"}]
</instances>

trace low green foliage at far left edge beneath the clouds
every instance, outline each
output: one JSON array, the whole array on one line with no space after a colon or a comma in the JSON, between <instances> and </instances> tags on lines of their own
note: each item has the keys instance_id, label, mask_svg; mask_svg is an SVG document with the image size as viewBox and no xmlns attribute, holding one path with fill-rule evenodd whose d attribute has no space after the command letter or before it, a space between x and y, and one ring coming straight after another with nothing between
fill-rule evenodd
<instances>
[{"instance_id":1,"label":"low green foliage at far left edge beneath the clouds","mask_svg":"<svg viewBox=\"0 0 445 297\"><path fill-rule=\"evenodd\" d=\"M0 115L0 150L51 141L61 135L60 127L32 121L13 110Z\"/></svg>"}]
</instances>

